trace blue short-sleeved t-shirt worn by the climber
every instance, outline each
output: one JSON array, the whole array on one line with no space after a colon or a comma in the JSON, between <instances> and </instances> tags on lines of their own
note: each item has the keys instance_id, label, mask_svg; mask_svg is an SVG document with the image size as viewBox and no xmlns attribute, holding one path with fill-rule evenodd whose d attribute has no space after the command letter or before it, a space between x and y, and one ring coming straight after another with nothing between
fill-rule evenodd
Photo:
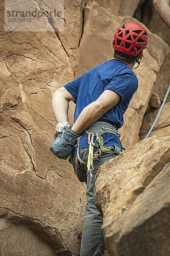
<instances>
[{"instance_id":1,"label":"blue short-sleeved t-shirt worn by the climber","mask_svg":"<svg viewBox=\"0 0 170 256\"><path fill-rule=\"evenodd\" d=\"M112 59L88 70L64 87L75 99L74 122L81 111L98 99L104 90L118 93L121 96L118 104L98 119L111 123L118 130L123 125L123 115L138 88L138 79L123 61ZM117 145L121 148L120 140L115 134L102 134L102 137L104 146ZM88 134L84 134L80 139L79 149L88 146ZM76 152L77 147L72 151L71 156L73 157ZM70 158L69 162L71 163Z\"/></svg>"}]
</instances>

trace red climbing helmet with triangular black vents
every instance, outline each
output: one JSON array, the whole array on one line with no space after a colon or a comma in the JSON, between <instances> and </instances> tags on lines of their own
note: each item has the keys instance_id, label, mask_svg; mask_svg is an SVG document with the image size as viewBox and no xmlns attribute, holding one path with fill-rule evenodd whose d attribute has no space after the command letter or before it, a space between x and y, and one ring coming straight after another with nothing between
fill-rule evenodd
<instances>
[{"instance_id":1,"label":"red climbing helmet with triangular black vents","mask_svg":"<svg viewBox=\"0 0 170 256\"><path fill-rule=\"evenodd\" d=\"M126 22L116 30L112 45L119 52L136 56L147 47L147 32L138 23Z\"/></svg>"}]
</instances>

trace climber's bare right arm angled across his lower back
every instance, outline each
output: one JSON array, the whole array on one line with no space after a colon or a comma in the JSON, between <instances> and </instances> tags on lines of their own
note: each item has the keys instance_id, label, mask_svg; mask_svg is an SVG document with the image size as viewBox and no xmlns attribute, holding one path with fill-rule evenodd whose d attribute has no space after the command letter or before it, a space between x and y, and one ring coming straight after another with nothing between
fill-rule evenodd
<instances>
[{"instance_id":1,"label":"climber's bare right arm angled across his lower back","mask_svg":"<svg viewBox=\"0 0 170 256\"><path fill-rule=\"evenodd\" d=\"M71 130L81 134L89 125L96 122L109 109L113 108L121 96L111 90L105 90L96 101L86 106L79 114Z\"/></svg>"}]
</instances>

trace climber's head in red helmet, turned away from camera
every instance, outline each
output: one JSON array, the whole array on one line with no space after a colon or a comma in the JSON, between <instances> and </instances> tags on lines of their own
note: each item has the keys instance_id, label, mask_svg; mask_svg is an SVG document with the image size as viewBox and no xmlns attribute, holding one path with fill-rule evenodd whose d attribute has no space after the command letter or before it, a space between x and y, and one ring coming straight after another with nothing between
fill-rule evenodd
<instances>
[{"instance_id":1,"label":"climber's head in red helmet, turned away from camera","mask_svg":"<svg viewBox=\"0 0 170 256\"><path fill-rule=\"evenodd\" d=\"M147 32L138 23L126 22L119 26L113 38L114 58L125 63L140 64L143 49L147 47Z\"/></svg>"}]
</instances>

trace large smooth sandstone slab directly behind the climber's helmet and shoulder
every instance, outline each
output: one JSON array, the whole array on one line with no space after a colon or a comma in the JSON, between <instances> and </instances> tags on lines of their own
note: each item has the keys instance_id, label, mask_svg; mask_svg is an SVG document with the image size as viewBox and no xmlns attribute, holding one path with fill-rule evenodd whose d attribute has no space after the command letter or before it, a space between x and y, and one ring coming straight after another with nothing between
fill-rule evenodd
<instances>
[{"instance_id":1,"label":"large smooth sandstone slab directly behind the climber's helmet and shoulder","mask_svg":"<svg viewBox=\"0 0 170 256\"><path fill-rule=\"evenodd\" d=\"M79 62L75 74L77 77L113 58L111 42L114 31L120 24L127 21L138 22L132 17L116 17L112 14L111 9L105 9L95 2L85 7L84 32L79 46ZM147 50L144 51L140 67L135 71L139 79L139 89L125 113L125 123L119 130L122 134L122 145L125 148L135 144L139 139L142 119L156 81L156 74L169 50L161 38L148 29L147 32L149 44Z\"/></svg>"}]
</instances>

